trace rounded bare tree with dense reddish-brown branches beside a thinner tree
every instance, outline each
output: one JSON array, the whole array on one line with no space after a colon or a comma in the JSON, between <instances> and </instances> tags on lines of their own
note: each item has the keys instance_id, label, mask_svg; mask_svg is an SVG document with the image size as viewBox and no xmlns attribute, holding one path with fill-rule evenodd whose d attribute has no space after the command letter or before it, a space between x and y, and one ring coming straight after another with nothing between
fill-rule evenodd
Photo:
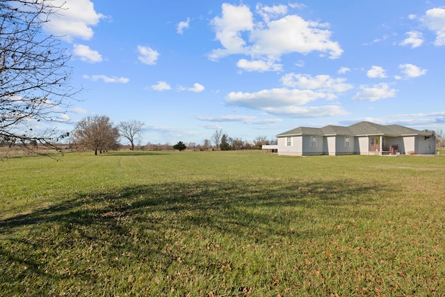
<instances>
[{"instance_id":1,"label":"rounded bare tree with dense reddish-brown branches beside a thinner tree","mask_svg":"<svg viewBox=\"0 0 445 297\"><path fill-rule=\"evenodd\" d=\"M74 131L74 147L78 150L103 152L118 147L119 129L105 115L88 116L79 122Z\"/></svg>"}]
</instances>

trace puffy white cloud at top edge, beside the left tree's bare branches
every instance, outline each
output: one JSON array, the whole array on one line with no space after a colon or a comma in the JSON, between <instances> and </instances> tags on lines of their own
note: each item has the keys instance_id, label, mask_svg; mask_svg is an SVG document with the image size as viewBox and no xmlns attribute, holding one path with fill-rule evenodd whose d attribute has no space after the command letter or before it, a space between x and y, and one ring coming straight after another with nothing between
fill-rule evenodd
<instances>
[{"instance_id":1,"label":"puffy white cloud at top edge, beside the left tree's bare branches","mask_svg":"<svg viewBox=\"0 0 445 297\"><path fill-rule=\"evenodd\" d=\"M65 3L65 4L64 4ZM105 16L96 13L90 0L54 0L54 6L62 6L57 15L51 15L45 29L72 42L74 38L90 40L94 32L92 26L99 24Z\"/></svg>"}]
</instances>

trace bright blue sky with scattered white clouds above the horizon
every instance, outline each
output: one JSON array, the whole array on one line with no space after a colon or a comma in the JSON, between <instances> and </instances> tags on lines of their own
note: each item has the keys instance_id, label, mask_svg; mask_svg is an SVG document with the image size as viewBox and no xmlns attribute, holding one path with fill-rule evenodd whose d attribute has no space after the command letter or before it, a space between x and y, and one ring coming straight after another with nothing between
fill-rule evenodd
<instances>
[{"instance_id":1,"label":"bright blue sky with scattered white clouds above the horizon","mask_svg":"<svg viewBox=\"0 0 445 297\"><path fill-rule=\"evenodd\" d=\"M62 1L62 0L57 0ZM66 0L72 122L145 122L140 143L252 141L369 120L445 128L445 1ZM66 128L64 128L66 129ZM124 141L123 141L124 142Z\"/></svg>"}]
</instances>

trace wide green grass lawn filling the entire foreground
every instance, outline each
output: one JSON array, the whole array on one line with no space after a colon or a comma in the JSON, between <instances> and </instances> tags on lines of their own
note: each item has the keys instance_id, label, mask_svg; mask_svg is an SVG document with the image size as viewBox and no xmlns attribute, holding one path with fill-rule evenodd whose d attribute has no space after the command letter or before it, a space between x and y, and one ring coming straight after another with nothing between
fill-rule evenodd
<instances>
[{"instance_id":1,"label":"wide green grass lawn filling the entire foreground","mask_svg":"<svg viewBox=\"0 0 445 297\"><path fill-rule=\"evenodd\" d=\"M445 295L445 155L0 166L1 296Z\"/></svg>"}]
</instances>

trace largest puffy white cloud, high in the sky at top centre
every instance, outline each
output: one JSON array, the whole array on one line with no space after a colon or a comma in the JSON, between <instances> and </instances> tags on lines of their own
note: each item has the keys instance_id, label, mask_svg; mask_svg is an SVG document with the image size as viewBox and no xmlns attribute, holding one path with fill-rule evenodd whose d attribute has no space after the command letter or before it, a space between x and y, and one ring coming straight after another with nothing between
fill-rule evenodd
<instances>
[{"instance_id":1,"label":"largest puffy white cloud, high in the sky at top centre","mask_svg":"<svg viewBox=\"0 0 445 297\"><path fill-rule=\"evenodd\" d=\"M223 47L211 51L209 58L216 61L232 54L244 54L255 62L263 61L262 67L248 65L248 69L264 71L264 65L274 65L284 54L319 51L330 58L339 58L343 54L339 43L330 39L329 24L285 15L287 6L282 5L258 5L257 13L264 22L255 23L248 6L223 3L221 17L211 21L216 40ZM245 61L240 65L247 65Z\"/></svg>"}]
</instances>

